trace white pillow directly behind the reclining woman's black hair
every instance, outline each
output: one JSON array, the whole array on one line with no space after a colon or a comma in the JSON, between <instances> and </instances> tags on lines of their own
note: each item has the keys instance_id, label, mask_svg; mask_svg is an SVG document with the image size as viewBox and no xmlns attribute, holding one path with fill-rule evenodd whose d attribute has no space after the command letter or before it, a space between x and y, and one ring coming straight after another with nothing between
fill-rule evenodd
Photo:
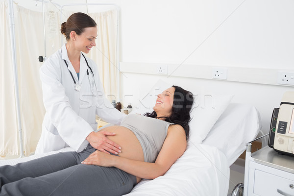
<instances>
[{"instance_id":1,"label":"white pillow directly behind the reclining woman's black hair","mask_svg":"<svg viewBox=\"0 0 294 196\"><path fill-rule=\"evenodd\" d=\"M194 98L194 106L190 114L190 137L188 143L201 144L229 105L233 95L207 95Z\"/></svg>"}]
</instances>

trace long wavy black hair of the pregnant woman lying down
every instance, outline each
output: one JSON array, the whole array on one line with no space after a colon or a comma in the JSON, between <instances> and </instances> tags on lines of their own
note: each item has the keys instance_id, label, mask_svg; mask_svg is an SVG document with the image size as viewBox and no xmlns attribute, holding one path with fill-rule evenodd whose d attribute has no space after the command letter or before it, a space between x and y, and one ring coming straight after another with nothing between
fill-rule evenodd
<instances>
[{"instance_id":1,"label":"long wavy black hair of the pregnant woman lying down","mask_svg":"<svg viewBox=\"0 0 294 196\"><path fill-rule=\"evenodd\" d=\"M186 139L189 139L190 127L189 122L191 121L190 111L193 104L193 94L179 86L172 86L174 90L172 114L170 117L157 117L155 111L152 113L144 114L151 118L165 118L166 122L181 125L186 133Z\"/></svg>"}]
</instances>

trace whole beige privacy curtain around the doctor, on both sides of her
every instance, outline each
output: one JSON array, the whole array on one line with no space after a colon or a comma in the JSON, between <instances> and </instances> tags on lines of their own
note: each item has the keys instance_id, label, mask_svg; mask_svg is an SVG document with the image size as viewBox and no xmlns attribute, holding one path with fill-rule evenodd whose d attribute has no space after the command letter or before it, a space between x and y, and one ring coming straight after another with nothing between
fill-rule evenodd
<instances>
[{"instance_id":1,"label":"whole beige privacy curtain around the doctor, on both sides of her","mask_svg":"<svg viewBox=\"0 0 294 196\"><path fill-rule=\"evenodd\" d=\"M50 3L49 3L50 4ZM45 109L42 99L38 56L44 55L43 13L16 6L15 35L21 120L25 155L35 151ZM60 12L46 6L47 56L61 45ZM67 14L69 16L70 14ZM96 61L106 95L117 94L116 11L89 14L98 24L97 47L89 57ZM0 2L0 156L19 154L18 127L14 98L8 5ZM67 18L63 16L63 21ZM57 30L56 30L57 28Z\"/></svg>"}]
</instances>

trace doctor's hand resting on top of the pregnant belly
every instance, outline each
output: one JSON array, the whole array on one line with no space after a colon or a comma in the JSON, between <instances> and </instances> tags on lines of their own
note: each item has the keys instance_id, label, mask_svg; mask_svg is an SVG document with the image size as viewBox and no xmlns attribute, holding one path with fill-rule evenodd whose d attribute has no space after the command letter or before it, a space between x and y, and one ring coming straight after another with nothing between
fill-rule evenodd
<instances>
[{"instance_id":1,"label":"doctor's hand resting on top of the pregnant belly","mask_svg":"<svg viewBox=\"0 0 294 196\"><path fill-rule=\"evenodd\" d=\"M122 148L118 144L109 140L106 135L113 136L115 135L115 133L111 133L108 131L93 131L87 136L86 140L90 143L92 147L100 150L101 152L105 152L107 154L109 154L109 152L113 154L118 154L122 152Z\"/></svg>"}]
</instances>

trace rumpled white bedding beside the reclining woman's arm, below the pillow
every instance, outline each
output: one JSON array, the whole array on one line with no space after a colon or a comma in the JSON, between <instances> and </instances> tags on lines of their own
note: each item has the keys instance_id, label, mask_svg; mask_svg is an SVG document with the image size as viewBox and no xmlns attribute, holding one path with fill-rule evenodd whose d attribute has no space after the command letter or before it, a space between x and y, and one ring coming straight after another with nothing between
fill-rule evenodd
<instances>
[{"instance_id":1,"label":"rumpled white bedding beside the reclining woman's arm, below the pillow","mask_svg":"<svg viewBox=\"0 0 294 196\"><path fill-rule=\"evenodd\" d=\"M154 180L142 180L126 196L226 196L229 166L216 147L190 145L170 170Z\"/></svg>"}]
</instances>

